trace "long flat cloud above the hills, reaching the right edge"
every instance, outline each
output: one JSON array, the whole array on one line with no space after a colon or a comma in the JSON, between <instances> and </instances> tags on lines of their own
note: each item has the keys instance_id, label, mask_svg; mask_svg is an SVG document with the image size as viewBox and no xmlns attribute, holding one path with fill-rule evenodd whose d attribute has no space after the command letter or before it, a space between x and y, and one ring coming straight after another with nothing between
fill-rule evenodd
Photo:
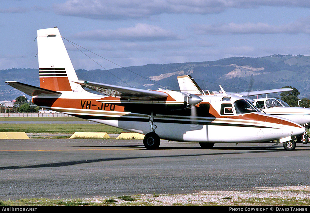
<instances>
[{"instance_id":1,"label":"long flat cloud above the hills, reaching the right edge","mask_svg":"<svg viewBox=\"0 0 310 213\"><path fill-rule=\"evenodd\" d=\"M210 35L225 35L225 34L275 34L275 33L288 33L310 34L309 19L299 19L295 22L271 25L268 23L228 23L228 24L212 24L212 25L193 25L193 30L197 35L210 34Z\"/></svg>"}]
</instances>

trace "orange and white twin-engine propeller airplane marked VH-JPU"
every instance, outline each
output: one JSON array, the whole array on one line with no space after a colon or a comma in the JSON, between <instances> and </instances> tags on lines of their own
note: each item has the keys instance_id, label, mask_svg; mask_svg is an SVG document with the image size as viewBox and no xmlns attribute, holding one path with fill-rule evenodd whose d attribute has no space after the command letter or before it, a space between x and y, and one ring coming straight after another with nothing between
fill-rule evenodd
<instances>
[{"instance_id":1,"label":"orange and white twin-engine propeller airplane marked VH-JPU","mask_svg":"<svg viewBox=\"0 0 310 213\"><path fill-rule=\"evenodd\" d=\"M225 92L195 95L79 81L58 28L38 30L37 40L40 87L16 81L7 84L32 96L40 107L145 134L147 149L158 148L161 138L198 142L206 148L214 143L277 140L286 150L293 150L291 137L305 131L293 121L260 113L246 99Z\"/></svg>"}]
</instances>

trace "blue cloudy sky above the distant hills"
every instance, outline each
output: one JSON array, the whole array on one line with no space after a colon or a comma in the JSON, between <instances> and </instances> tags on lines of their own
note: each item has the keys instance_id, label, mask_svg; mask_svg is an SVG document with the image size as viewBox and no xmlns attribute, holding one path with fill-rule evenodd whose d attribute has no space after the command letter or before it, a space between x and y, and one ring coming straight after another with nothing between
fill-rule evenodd
<instances>
[{"instance_id":1,"label":"blue cloudy sky above the distant hills","mask_svg":"<svg viewBox=\"0 0 310 213\"><path fill-rule=\"evenodd\" d=\"M0 1L0 70L38 68L37 30L121 66L310 55L309 0ZM117 67L64 41L75 69ZM102 66L102 67L101 67Z\"/></svg>"}]
</instances>

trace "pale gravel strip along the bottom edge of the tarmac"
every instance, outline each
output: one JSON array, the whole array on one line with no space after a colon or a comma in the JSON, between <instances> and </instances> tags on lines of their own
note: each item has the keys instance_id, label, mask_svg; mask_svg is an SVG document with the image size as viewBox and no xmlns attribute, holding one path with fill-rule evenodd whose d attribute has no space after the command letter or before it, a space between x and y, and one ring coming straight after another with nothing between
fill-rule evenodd
<instances>
[{"instance_id":1,"label":"pale gravel strip along the bottom edge of the tarmac","mask_svg":"<svg viewBox=\"0 0 310 213\"><path fill-rule=\"evenodd\" d=\"M173 205L218 205L218 206L276 206L275 203L264 203L264 199L275 198L286 200L296 200L299 206L309 206L310 186L287 186L287 187L259 187L251 191L201 191L193 194L139 194L132 195L135 203L147 203L155 206L173 206ZM253 199L252 199L253 198ZM92 202L103 202L106 199L112 199L113 205L124 206L128 201L118 197L97 197L91 199ZM259 203L253 203L253 200ZM280 204L281 205L281 204ZM290 205L290 204L289 204Z\"/></svg>"}]
</instances>

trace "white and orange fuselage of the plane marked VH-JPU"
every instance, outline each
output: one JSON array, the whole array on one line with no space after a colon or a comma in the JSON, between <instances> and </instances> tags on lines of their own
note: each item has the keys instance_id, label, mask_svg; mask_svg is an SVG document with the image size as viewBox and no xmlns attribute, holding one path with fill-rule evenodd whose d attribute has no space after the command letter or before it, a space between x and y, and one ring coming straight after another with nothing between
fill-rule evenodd
<instances>
[{"instance_id":1,"label":"white and orange fuselage of the plane marked VH-JPU","mask_svg":"<svg viewBox=\"0 0 310 213\"><path fill-rule=\"evenodd\" d=\"M51 99L53 101L50 101L49 105L42 105L48 101L40 99L39 96L34 97L33 102L45 108L128 131L141 134L152 131L150 115L126 112L120 106L99 101L106 97L85 91L64 92L58 99ZM257 111L237 114L233 104L234 98L222 101L223 96L200 97L203 103L210 104L209 113L194 117L156 113L153 117L155 133L162 139L183 142L251 143L277 140L304 132L298 124L272 115ZM220 115L223 103L231 103L232 109L228 108L232 111Z\"/></svg>"}]
</instances>

